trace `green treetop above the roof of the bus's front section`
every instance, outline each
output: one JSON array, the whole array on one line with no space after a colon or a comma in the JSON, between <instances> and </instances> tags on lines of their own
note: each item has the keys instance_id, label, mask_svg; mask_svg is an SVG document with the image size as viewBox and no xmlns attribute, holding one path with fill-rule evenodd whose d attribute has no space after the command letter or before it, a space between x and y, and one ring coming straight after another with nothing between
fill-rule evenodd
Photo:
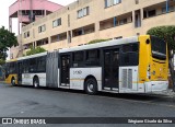
<instances>
[{"instance_id":1,"label":"green treetop above the roof of the bus's front section","mask_svg":"<svg viewBox=\"0 0 175 127\"><path fill-rule=\"evenodd\" d=\"M31 55L35 55L35 54L39 54L39 53L45 53L45 51L46 50L43 47L36 47L36 48L31 47L31 49L28 51L26 51L26 56L31 56Z\"/></svg>"}]
</instances>

